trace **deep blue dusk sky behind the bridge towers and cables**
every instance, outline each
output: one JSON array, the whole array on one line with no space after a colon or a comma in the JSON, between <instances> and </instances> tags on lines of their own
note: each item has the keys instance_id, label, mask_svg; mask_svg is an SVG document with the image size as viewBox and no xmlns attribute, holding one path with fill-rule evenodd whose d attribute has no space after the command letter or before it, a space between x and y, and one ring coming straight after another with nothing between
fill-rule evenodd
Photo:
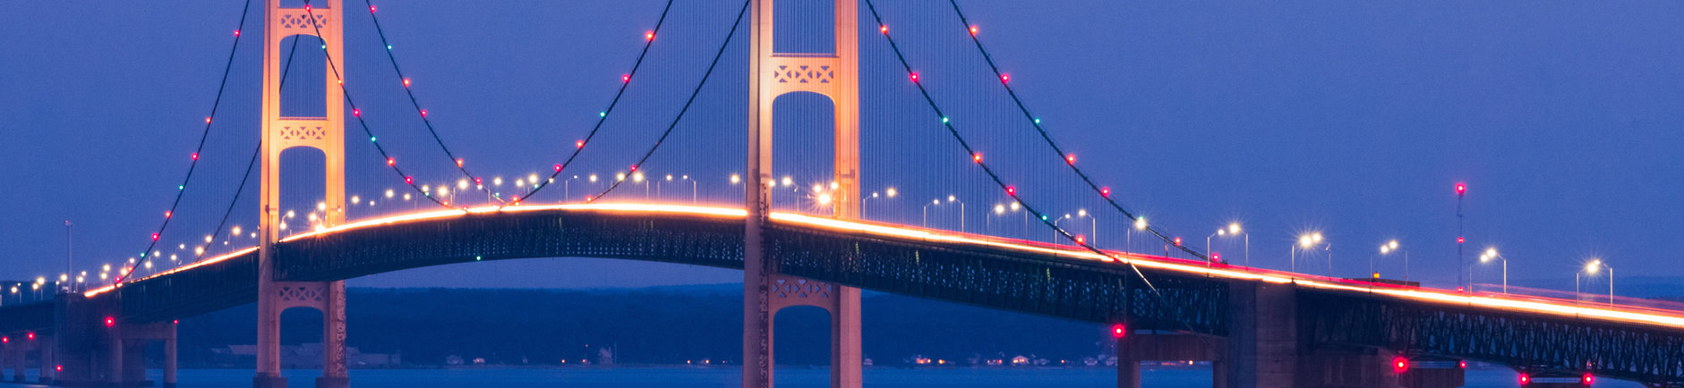
<instances>
[{"instance_id":1,"label":"deep blue dusk sky behind the bridge towers and cables","mask_svg":"<svg viewBox=\"0 0 1684 388\"><path fill-rule=\"evenodd\" d=\"M416 81L416 97L440 136L485 176L547 175L566 158L613 97L662 3L376 2L394 55ZM76 223L77 270L147 247L210 111L241 5L29 2L0 13L0 279L64 272L64 220ZM603 148L581 155L576 171L606 178L647 149L695 86L739 5L675 5L663 27L670 32L657 39L645 64L648 76L633 82L632 102L616 111L628 116L610 119ZM1684 146L1684 24L1677 22L1684 3L960 5L1052 136L1118 188L1132 210L1196 247L1218 227L1241 222L1253 264L1285 269L1295 237L1319 230L1330 242L1334 274L1357 277L1376 249L1396 239L1410 252L1411 279L1453 286L1452 186L1465 181L1468 262L1497 247L1511 260L1511 279L1546 279L1541 286L1554 289L1571 289L1575 270L1591 257L1622 279L1684 275L1684 267L1674 267L1684 252L1684 161L1676 149ZM342 60L372 131L392 141L396 158L419 171L418 180L456 181L392 76L362 0L347 8ZM1081 230L1096 233L1101 247L1125 239L1116 233L1125 230L1123 217L1081 197L1083 186L1036 143L1004 91L985 82L994 76L946 2L881 0L877 8L938 102L980 138L990 161L1039 163L1005 170L1026 181L1031 202L1051 198L1032 205L1095 212L1096 230ZM861 18L867 190L898 186L904 197L869 202L867 212L919 223L923 203L957 193L968 205L967 228L992 230L977 225L999 222L983 213L1000 195L931 124L933 113L906 84L869 13ZM259 20L253 10L204 170L192 181L199 186L190 185L184 198L180 225L165 232L165 254L214 228L256 144ZM741 198L726 176L743 171L744 42L739 32L692 116L648 165L653 173L694 173L704 202ZM790 128L793 139L823 138L803 138L802 123ZM355 121L347 124L352 193L372 198L401 188L360 131ZM829 161L802 161L803 149L813 148L790 146L778 158L790 171L820 171ZM926 158L945 165L921 163ZM1042 181L1058 186L1041 188ZM537 200L559 202L561 190L546 188ZM583 197L579 186L571 190ZM615 195L645 188L620 190ZM242 200L234 223L249 230L256 210ZM357 212L364 210L352 218ZM938 218L931 227L958 225ZM1031 235L1047 233L1037 227ZM1243 249L1223 242L1219 250L1239 260ZM1381 260L1379 270L1398 277L1396 257ZM1303 270L1324 274L1327 267ZM1499 275L1495 265L1480 265L1477 274L1479 282ZM736 270L541 259L416 269L350 284L738 281Z\"/></svg>"}]
</instances>

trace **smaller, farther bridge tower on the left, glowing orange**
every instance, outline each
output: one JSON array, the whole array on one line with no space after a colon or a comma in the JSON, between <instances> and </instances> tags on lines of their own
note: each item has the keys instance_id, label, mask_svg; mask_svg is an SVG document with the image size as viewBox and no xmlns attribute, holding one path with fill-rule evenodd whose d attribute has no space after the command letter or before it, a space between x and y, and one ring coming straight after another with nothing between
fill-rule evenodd
<instances>
[{"instance_id":1,"label":"smaller, farther bridge tower on the left, glowing orange","mask_svg":"<svg viewBox=\"0 0 1684 388\"><path fill-rule=\"evenodd\" d=\"M306 2L308 3L308 2ZM323 7L325 5L325 7ZM344 8L340 0L318 0L308 8L283 8L281 0L264 0L263 25L263 198L258 245L258 375L256 388L285 388L281 376L281 311L313 307L322 311L322 378L317 386L349 386L345 375L345 282L280 282L274 270L274 244L281 225L281 151L315 148L323 155L325 225L345 222L345 92L338 81L345 76ZM281 116L281 45L288 37L318 37L327 59L322 116ZM308 47L308 45L306 45ZM308 47L313 49L313 47ZM317 64L312 64L317 66ZM310 81L295 81L310 82Z\"/></svg>"}]
</instances>

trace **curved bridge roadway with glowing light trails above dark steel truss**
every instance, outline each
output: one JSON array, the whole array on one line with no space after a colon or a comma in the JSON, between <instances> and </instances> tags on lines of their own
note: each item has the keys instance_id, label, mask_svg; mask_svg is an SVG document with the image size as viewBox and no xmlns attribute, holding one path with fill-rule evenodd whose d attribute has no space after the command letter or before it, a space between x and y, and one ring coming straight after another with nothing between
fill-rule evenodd
<instances>
[{"instance_id":1,"label":"curved bridge roadway with glowing light trails above dark steel truss","mask_svg":"<svg viewBox=\"0 0 1684 388\"><path fill-rule=\"evenodd\" d=\"M424 212L286 237L276 245L276 274L280 281L340 281L530 257L741 269L743 217L741 208L648 203ZM1293 312L1288 343L1303 349L1383 349L1531 373L1684 383L1684 314L1676 311L1100 255L1069 245L795 213L771 218L766 244L778 272L861 289L1229 341L1268 336L1250 316L1285 309ZM1125 264L1135 264L1157 292ZM256 301L256 249L244 249L84 297L120 306L121 321L168 321ZM1285 289L1288 302L1265 301L1280 292L1263 289ZM0 309L0 333L52 326L47 304Z\"/></svg>"}]
</instances>

